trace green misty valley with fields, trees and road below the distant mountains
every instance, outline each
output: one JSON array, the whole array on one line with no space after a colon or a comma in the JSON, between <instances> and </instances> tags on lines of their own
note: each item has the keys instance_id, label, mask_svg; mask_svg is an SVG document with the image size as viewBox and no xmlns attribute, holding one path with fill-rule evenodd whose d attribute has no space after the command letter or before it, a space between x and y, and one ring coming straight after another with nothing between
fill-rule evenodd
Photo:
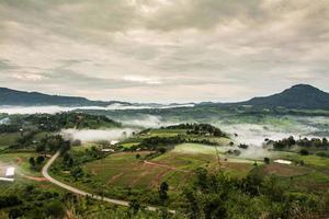
<instances>
[{"instance_id":1,"label":"green misty valley with fields, trees and road below the distant mountains","mask_svg":"<svg viewBox=\"0 0 329 219\"><path fill-rule=\"evenodd\" d=\"M328 115L213 104L3 113L0 177L14 175L0 181L13 199L0 216L203 218L214 200L215 218L290 218L296 206L321 218Z\"/></svg>"}]
</instances>

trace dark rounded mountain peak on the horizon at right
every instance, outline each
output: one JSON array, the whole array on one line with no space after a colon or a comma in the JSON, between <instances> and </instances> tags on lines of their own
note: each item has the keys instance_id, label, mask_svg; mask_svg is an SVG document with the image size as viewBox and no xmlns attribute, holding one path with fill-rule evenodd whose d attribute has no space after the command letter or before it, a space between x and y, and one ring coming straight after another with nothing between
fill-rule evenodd
<instances>
[{"instance_id":1,"label":"dark rounded mountain peak on the horizon at right","mask_svg":"<svg viewBox=\"0 0 329 219\"><path fill-rule=\"evenodd\" d=\"M283 106L286 108L329 110L329 93L308 84L297 84L290 89L264 97L253 97L239 103L263 107Z\"/></svg>"}]
</instances>

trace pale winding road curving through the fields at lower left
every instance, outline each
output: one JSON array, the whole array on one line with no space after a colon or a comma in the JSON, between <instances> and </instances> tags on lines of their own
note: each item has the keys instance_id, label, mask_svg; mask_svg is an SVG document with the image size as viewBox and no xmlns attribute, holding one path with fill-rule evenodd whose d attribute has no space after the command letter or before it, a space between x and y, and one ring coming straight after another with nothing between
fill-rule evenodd
<instances>
[{"instance_id":1,"label":"pale winding road curving through the fields at lower left","mask_svg":"<svg viewBox=\"0 0 329 219\"><path fill-rule=\"evenodd\" d=\"M125 200L116 200L116 199L111 199L111 198L106 198L106 197L101 197L101 196L98 196L98 195L93 195L93 194L90 194L90 193L87 193L87 192L83 192L83 191L80 191L78 188L75 188L70 185L67 185L65 183L61 183L55 178L53 178L49 173L48 173L48 169L52 166L52 164L55 162L55 160L59 157L59 152L57 152L55 155L53 155L53 158L47 162L47 164L43 168L43 175L44 177L46 177L50 183L54 183L56 185L58 185L59 187L61 188L65 188L71 193L75 193L77 195L81 195L81 196L88 196L90 198L93 198L93 199L97 199L97 200L103 200L103 201L107 201L107 203L111 203L111 204L114 204L114 205L120 205L120 206L125 206L125 207L128 207L129 206L129 203L128 201L125 201ZM157 208L155 207L150 207L148 206L147 207L148 210L150 211L155 211L157 210ZM173 212L174 211L170 211L170 212Z\"/></svg>"}]
</instances>

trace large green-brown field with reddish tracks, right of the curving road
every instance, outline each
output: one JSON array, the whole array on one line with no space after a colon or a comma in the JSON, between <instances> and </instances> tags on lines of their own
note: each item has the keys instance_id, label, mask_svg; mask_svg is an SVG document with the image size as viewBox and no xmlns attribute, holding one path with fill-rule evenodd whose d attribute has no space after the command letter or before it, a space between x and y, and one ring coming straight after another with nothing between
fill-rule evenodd
<instances>
[{"instance_id":1,"label":"large green-brown field with reddish tracks, right of the curving road","mask_svg":"<svg viewBox=\"0 0 329 219\"><path fill-rule=\"evenodd\" d=\"M184 155L177 158L174 152L166 153L147 163L136 159L150 152L121 152L103 160L87 163L83 169L92 177L105 185L158 189L160 183L168 181L177 191L191 176L191 171L208 162L206 155Z\"/></svg>"}]
</instances>

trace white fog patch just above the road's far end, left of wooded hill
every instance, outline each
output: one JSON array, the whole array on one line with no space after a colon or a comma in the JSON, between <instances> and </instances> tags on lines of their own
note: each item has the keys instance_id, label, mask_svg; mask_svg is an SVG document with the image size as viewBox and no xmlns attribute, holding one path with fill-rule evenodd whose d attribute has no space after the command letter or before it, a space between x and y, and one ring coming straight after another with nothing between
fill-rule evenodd
<instances>
[{"instance_id":1,"label":"white fog patch just above the road's far end, left of wooded hill","mask_svg":"<svg viewBox=\"0 0 329 219\"><path fill-rule=\"evenodd\" d=\"M68 140L81 140L82 142L94 142L101 140L122 140L133 135L136 131L132 128L123 129L64 129L60 135Z\"/></svg>"}]
</instances>

